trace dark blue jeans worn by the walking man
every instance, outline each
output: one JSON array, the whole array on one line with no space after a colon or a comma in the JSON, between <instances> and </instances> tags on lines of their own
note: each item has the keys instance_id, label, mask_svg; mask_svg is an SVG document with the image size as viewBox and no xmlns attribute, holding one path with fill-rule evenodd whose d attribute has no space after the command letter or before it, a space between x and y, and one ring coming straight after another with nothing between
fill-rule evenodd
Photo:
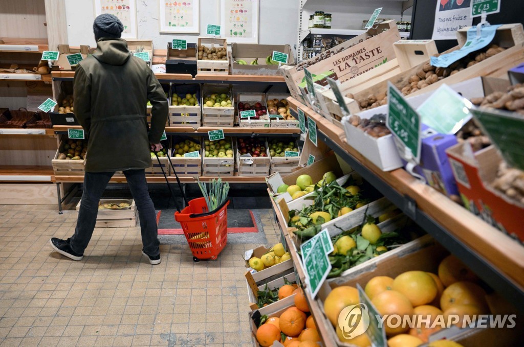
<instances>
[{"instance_id":1,"label":"dark blue jeans worn by the walking man","mask_svg":"<svg viewBox=\"0 0 524 347\"><path fill-rule=\"evenodd\" d=\"M70 240L71 249L79 254L84 254L84 250L91 240L98 214L99 200L113 174L114 172L85 173L77 228ZM151 256L158 255L160 254L160 242L158 241L155 206L147 191L146 173L144 170L126 170L124 175L138 208L144 252Z\"/></svg>"}]
</instances>

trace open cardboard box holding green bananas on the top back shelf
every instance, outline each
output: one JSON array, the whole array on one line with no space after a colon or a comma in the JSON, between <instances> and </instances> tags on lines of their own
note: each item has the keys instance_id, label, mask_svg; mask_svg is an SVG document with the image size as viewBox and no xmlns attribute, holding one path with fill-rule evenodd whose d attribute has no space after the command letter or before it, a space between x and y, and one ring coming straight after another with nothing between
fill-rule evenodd
<instances>
[{"instance_id":1,"label":"open cardboard box holding green bananas on the top back shelf","mask_svg":"<svg viewBox=\"0 0 524 347\"><path fill-rule=\"evenodd\" d=\"M293 51L289 44L255 44L235 43L231 44L231 73L233 75L281 75L278 65L267 65L266 58L273 51L288 54L286 65L294 65ZM258 65L250 63L258 58ZM244 60L247 65L238 64L235 61ZM283 64L282 64L283 65Z\"/></svg>"}]
</instances>

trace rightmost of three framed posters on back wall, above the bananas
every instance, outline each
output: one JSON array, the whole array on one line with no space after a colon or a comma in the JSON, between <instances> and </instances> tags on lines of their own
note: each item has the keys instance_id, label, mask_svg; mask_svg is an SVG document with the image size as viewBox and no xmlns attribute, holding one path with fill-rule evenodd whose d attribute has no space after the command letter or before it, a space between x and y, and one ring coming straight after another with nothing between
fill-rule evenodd
<instances>
[{"instance_id":1,"label":"rightmost of three framed posters on back wall, above the bananas","mask_svg":"<svg viewBox=\"0 0 524 347\"><path fill-rule=\"evenodd\" d=\"M220 0L220 13L228 42L258 43L258 0Z\"/></svg>"}]
</instances>

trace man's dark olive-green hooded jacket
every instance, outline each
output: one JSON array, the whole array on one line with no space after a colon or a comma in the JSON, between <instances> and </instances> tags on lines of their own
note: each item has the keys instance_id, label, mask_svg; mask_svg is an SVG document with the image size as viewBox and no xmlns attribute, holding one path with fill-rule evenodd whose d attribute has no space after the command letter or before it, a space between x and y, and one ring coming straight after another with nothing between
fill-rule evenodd
<instances>
[{"instance_id":1,"label":"man's dark olive-green hooded jacket","mask_svg":"<svg viewBox=\"0 0 524 347\"><path fill-rule=\"evenodd\" d=\"M166 126L168 102L149 65L129 53L125 40L101 38L75 71L74 114L89 138L86 172L146 169L149 143L160 143Z\"/></svg>"}]
</instances>

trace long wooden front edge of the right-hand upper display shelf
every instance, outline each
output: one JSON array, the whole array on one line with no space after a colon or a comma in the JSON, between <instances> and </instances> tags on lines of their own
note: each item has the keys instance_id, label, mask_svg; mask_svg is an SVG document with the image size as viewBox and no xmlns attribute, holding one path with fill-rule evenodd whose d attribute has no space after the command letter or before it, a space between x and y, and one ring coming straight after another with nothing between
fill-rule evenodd
<instances>
[{"instance_id":1,"label":"long wooden front edge of the right-hand upper display shelf","mask_svg":"<svg viewBox=\"0 0 524 347\"><path fill-rule=\"evenodd\" d=\"M326 137L335 141L343 150L351 154L362 165L372 171L400 193L413 198L417 206L428 216L449 231L457 239L477 252L500 272L524 287L524 252L522 246L504 233L488 225L481 218L457 205L432 187L420 183L403 169L390 172L381 171L361 153L345 141L344 130L331 124L309 107L289 98L288 102L300 108L316 121L316 125Z\"/></svg>"}]
</instances>

